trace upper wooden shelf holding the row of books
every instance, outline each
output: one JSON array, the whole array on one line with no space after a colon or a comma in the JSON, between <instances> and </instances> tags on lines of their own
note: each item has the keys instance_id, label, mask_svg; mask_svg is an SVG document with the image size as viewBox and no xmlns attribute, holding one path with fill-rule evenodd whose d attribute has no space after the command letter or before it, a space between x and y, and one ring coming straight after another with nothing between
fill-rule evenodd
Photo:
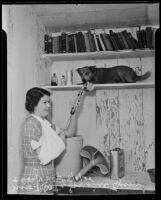
<instances>
[{"instance_id":1,"label":"upper wooden shelf holding the row of books","mask_svg":"<svg viewBox=\"0 0 161 200\"><path fill-rule=\"evenodd\" d=\"M136 50L83 52L83 53L43 54L42 58L45 58L53 62L53 61L70 61L70 60L136 58L136 57L150 57L154 55L155 55L155 50L136 49Z\"/></svg>"}]
</instances>

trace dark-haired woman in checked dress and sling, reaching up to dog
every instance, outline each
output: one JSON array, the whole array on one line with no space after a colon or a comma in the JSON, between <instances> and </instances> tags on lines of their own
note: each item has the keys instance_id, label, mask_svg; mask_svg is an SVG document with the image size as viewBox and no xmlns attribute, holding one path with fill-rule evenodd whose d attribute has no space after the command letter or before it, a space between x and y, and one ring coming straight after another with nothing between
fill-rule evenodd
<instances>
[{"instance_id":1,"label":"dark-haired woman in checked dress and sling, reaching up to dog","mask_svg":"<svg viewBox=\"0 0 161 200\"><path fill-rule=\"evenodd\" d=\"M92 90L87 84L87 90ZM26 110L30 115L22 129L23 171L19 193L42 194L53 192L55 170L53 160L65 150L65 137L75 130L75 114L67 130L60 129L47 120L50 93L34 87L26 93Z\"/></svg>"}]
</instances>

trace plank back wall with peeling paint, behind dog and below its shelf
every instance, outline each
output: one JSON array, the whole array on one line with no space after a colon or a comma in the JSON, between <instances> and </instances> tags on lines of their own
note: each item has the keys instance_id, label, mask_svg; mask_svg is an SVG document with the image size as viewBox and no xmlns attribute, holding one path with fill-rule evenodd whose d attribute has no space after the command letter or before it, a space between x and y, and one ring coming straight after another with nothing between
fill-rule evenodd
<instances>
[{"instance_id":1,"label":"plank back wall with peeling paint, behind dog and below its shelf","mask_svg":"<svg viewBox=\"0 0 161 200\"><path fill-rule=\"evenodd\" d=\"M148 81L154 81L154 57L111 60L55 62L52 71L58 78L66 69L96 65L111 67L124 64L138 74L151 71ZM58 126L65 127L70 108L78 90L54 91L53 117ZM108 150L125 150L126 172L145 171L154 167L154 89L106 89L86 93L78 110L77 135L84 145L92 145L107 155Z\"/></svg>"}]
</instances>

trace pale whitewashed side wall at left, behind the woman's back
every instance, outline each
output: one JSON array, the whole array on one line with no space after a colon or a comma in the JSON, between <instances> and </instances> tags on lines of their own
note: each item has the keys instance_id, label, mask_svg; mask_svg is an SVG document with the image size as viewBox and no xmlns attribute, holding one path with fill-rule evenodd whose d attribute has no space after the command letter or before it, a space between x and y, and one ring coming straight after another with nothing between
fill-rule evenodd
<instances>
[{"instance_id":1,"label":"pale whitewashed side wall at left, behind the woman's back","mask_svg":"<svg viewBox=\"0 0 161 200\"><path fill-rule=\"evenodd\" d=\"M29 5L3 5L7 34L7 187L17 192L23 166L21 126L26 117L25 95L31 87L47 84L51 68L41 59L45 27Z\"/></svg>"}]
</instances>

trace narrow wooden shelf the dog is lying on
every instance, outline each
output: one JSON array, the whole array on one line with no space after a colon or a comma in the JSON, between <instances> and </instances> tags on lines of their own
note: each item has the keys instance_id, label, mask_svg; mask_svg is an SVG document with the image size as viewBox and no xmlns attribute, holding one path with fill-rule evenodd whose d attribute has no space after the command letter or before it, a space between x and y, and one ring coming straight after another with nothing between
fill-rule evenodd
<instances>
[{"instance_id":1,"label":"narrow wooden shelf the dog is lying on","mask_svg":"<svg viewBox=\"0 0 161 200\"><path fill-rule=\"evenodd\" d=\"M71 85L71 86L43 86L44 89L49 90L79 90L82 85ZM154 82L137 82L137 83L118 83L118 84L95 84L93 85L94 90L103 89L141 89L141 88L154 88Z\"/></svg>"}]
</instances>

